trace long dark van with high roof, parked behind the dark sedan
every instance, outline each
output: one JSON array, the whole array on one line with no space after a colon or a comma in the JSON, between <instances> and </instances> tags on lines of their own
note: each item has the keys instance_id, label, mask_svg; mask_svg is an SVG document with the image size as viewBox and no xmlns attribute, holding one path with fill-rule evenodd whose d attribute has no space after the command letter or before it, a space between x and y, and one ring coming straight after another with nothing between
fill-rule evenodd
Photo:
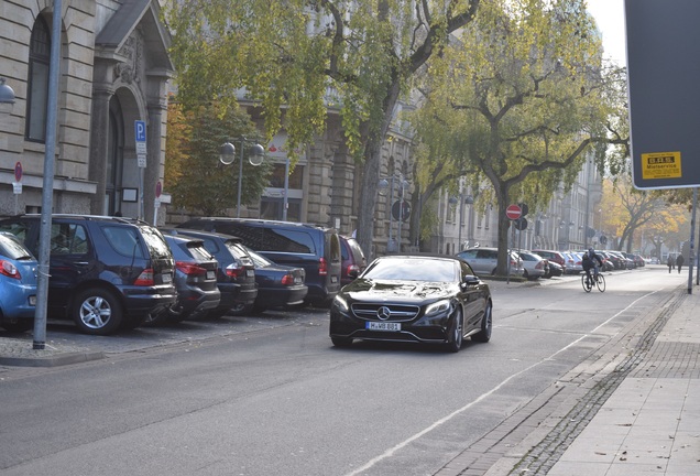
<instances>
[{"instance_id":1,"label":"long dark van with high roof, parked behind the dark sedan","mask_svg":"<svg viewBox=\"0 0 700 476\"><path fill-rule=\"evenodd\" d=\"M251 218L194 218L178 228L233 235L277 264L304 268L305 302L327 306L340 290L340 239L332 228Z\"/></svg>"}]
</instances>

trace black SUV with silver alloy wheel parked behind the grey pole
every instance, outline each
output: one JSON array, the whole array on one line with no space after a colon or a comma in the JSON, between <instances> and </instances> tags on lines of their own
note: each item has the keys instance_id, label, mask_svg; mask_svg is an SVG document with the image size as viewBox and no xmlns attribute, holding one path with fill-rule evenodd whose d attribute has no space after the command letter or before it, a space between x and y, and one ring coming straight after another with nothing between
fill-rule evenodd
<instances>
[{"instance_id":1,"label":"black SUV with silver alloy wheel parked behind the grey pole","mask_svg":"<svg viewBox=\"0 0 700 476\"><path fill-rule=\"evenodd\" d=\"M40 215L0 220L34 256ZM73 320L86 334L141 325L177 301L175 261L163 235L133 218L53 215L47 314Z\"/></svg>"}]
</instances>

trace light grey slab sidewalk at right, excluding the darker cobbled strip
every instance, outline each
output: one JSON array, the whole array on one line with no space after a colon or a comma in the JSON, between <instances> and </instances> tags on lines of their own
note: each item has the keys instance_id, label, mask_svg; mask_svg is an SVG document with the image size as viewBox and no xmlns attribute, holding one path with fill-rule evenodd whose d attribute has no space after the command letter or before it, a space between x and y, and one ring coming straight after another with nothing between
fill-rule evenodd
<instances>
[{"instance_id":1,"label":"light grey slab sidewalk at right, excluding the darker cobbled strip","mask_svg":"<svg viewBox=\"0 0 700 476\"><path fill-rule=\"evenodd\" d=\"M648 351L549 476L700 474L698 291L681 296Z\"/></svg>"}]
</instances>

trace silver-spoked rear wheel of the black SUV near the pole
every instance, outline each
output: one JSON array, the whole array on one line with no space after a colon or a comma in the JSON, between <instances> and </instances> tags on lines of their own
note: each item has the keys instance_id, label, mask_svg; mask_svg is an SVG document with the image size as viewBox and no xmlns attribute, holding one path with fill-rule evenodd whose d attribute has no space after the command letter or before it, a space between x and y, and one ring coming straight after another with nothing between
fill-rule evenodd
<instances>
[{"instance_id":1,"label":"silver-spoked rear wheel of the black SUV near the pole","mask_svg":"<svg viewBox=\"0 0 700 476\"><path fill-rule=\"evenodd\" d=\"M121 303L100 288L81 291L75 299L73 320L85 334L109 335L121 324Z\"/></svg>"}]
</instances>

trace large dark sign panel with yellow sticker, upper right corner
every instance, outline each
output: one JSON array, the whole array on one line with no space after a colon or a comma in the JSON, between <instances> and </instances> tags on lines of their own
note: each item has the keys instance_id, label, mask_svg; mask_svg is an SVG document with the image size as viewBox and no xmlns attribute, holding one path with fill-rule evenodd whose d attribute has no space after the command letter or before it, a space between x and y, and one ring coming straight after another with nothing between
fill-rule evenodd
<instances>
[{"instance_id":1,"label":"large dark sign panel with yellow sticker, upper right corner","mask_svg":"<svg viewBox=\"0 0 700 476\"><path fill-rule=\"evenodd\" d=\"M700 186L698 19L698 0L625 0L637 188Z\"/></svg>"}]
</instances>

